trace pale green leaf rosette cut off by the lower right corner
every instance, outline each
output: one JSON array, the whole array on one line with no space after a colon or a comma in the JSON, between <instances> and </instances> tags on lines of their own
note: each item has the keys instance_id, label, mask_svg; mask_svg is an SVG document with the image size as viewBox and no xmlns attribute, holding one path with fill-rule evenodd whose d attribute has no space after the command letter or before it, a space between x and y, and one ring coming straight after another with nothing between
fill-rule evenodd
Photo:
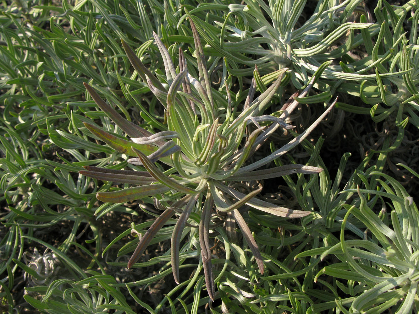
<instances>
[{"instance_id":1,"label":"pale green leaf rosette cut off by the lower right corner","mask_svg":"<svg viewBox=\"0 0 419 314\"><path fill-rule=\"evenodd\" d=\"M315 253L321 253L320 259L334 254L341 262L321 269L315 280L329 275L347 282L345 285L342 281L335 281L341 291L354 296L349 310L345 309L345 300L338 301L339 308L345 313L382 313L389 308L394 313L411 313L413 307L417 307L419 213L413 198L396 180L378 171L369 171L367 175L379 176L380 187L377 190L358 187L342 191L355 192L359 198L342 205L346 214L339 243ZM378 215L372 210L377 205L381 206ZM352 220L351 216L355 219ZM361 237L354 239L346 235L347 224L359 225L357 221L362 223L357 232ZM354 282L357 277L362 281Z\"/></svg>"}]
</instances>

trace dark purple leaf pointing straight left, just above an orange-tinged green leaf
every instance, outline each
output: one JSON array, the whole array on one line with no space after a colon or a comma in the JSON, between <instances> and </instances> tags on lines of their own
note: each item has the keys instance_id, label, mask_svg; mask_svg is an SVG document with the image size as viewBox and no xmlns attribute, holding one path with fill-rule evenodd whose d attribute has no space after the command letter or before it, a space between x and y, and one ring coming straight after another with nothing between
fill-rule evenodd
<instances>
[{"instance_id":1,"label":"dark purple leaf pointing straight left, just above an orange-tinged green leaf","mask_svg":"<svg viewBox=\"0 0 419 314\"><path fill-rule=\"evenodd\" d=\"M85 166L86 170L79 171L81 175L102 181L144 185L156 180L146 171L113 170L99 167ZM109 171L110 170L110 171ZM139 173L138 173L139 172Z\"/></svg>"}]
</instances>

